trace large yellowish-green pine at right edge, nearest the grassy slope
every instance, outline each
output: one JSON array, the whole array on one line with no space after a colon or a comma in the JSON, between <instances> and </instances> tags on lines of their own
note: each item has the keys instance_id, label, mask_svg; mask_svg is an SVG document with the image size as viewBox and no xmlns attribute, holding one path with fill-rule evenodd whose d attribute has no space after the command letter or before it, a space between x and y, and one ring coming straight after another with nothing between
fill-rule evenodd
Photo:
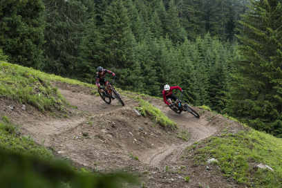
<instances>
[{"instance_id":1,"label":"large yellowish-green pine at right edge, nearest the grassy slope","mask_svg":"<svg viewBox=\"0 0 282 188\"><path fill-rule=\"evenodd\" d=\"M241 60L233 61L229 113L259 131L282 138L282 9L279 1L251 1L240 23Z\"/></svg>"}]
</instances>

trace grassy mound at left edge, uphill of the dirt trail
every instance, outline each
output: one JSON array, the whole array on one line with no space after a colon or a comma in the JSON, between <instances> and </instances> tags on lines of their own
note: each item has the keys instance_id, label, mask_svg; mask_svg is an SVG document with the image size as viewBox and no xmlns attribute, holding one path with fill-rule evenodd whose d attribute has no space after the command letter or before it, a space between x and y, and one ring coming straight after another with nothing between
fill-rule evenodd
<instances>
[{"instance_id":1,"label":"grassy mound at left edge, uphill of the dirt trail","mask_svg":"<svg viewBox=\"0 0 282 188\"><path fill-rule=\"evenodd\" d=\"M46 74L6 62L0 62L0 93L0 97L31 104L40 111L68 104Z\"/></svg>"}]
</instances>

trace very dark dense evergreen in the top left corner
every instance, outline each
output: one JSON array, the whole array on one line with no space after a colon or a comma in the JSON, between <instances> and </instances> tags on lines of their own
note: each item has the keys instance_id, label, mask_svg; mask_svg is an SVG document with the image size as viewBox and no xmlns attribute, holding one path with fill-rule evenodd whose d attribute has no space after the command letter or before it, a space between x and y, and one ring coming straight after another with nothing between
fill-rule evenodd
<instances>
[{"instance_id":1,"label":"very dark dense evergreen in the top left corner","mask_svg":"<svg viewBox=\"0 0 282 188\"><path fill-rule=\"evenodd\" d=\"M41 0L1 1L0 48L8 62L39 68L44 44Z\"/></svg>"}]
</instances>

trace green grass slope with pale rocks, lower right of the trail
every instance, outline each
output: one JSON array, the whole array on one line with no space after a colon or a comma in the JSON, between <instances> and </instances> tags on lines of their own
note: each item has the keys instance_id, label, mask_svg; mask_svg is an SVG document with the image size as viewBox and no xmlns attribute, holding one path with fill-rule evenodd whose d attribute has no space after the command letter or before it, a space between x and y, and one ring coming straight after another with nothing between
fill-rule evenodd
<instances>
[{"instance_id":1,"label":"green grass slope with pale rocks, lower right of the trail","mask_svg":"<svg viewBox=\"0 0 282 188\"><path fill-rule=\"evenodd\" d=\"M241 131L212 137L196 160L201 163L216 158L227 180L236 180L253 187L282 187L282 139L259 131ZM255 164L267 164L274 171L258 169Z\"/></svg>"}]
</instances>

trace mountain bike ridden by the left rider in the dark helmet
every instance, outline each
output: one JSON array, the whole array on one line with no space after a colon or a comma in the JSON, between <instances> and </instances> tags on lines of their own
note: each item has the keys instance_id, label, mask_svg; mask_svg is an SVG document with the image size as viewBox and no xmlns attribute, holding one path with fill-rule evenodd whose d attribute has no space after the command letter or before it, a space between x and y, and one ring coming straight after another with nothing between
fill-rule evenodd
<instances>
[{"instance_id":1,"label":"mountain bike ridden by the left rider in the dark helmet","mask_svg":"<svg viewBox=\"0 0 282 188\"><path fill-rule=\"evenodd\" d=\"M101 88L101 90L103 91L102 93L98 89L98 93L102 100L106 102L106 104L110 104L112 97L115 97L122 104L122 106L124 106L124 102L120 98L120 94L115 90L115 87L111 85L111 83L113 82L115 82L115 79L113 79L111 82L108 82L108 84L104 85L103 88Z\"/></svg>"}]
</instances>

